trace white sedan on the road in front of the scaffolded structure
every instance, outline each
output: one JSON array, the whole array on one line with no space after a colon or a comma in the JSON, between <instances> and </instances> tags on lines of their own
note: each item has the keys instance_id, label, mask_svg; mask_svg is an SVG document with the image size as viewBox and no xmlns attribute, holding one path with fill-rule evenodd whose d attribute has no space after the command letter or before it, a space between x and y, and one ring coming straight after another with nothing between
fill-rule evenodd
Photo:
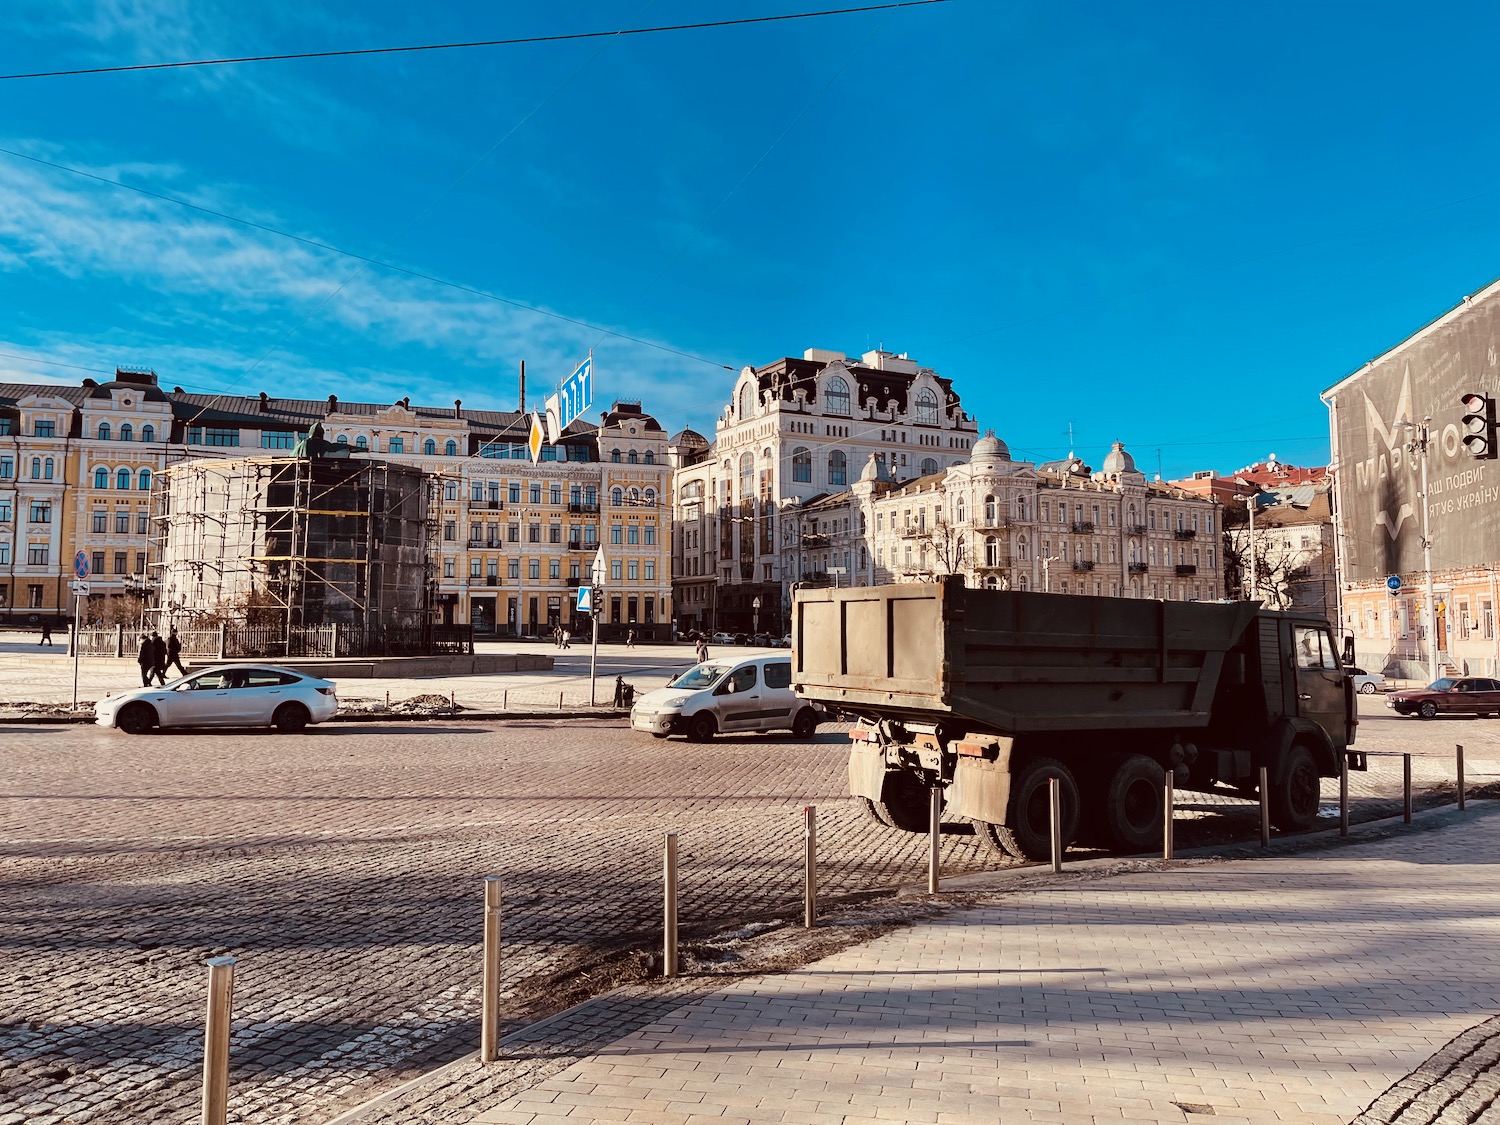
<instances>
[{"instance_id":1,"label":"white sedan on the road in front of the scaffolded structure","mask_svg":"<svg viewBox=\"0 0 1500 1125\"><path fill-rule=\"evenodd\" d=\"M267 664L226 664L106 696L94 704L94 722L129 735L153 726L274 726L296 734L338 710L328 680Z\"/></svg>"}]
</instances>

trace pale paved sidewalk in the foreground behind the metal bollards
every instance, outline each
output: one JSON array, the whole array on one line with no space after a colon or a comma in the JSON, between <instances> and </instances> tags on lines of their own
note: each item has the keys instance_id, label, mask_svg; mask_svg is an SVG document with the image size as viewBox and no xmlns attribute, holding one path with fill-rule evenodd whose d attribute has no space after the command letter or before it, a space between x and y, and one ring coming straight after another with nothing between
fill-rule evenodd
<instances>
[{"instance_id":1,"label":"pale paved sidewalk in the foreground behind the metal bollards","mask_svg":"<svg viewBox=\"0 0 1500 1125\"><path fill-rule=\"evenodd\" d=\"M402 1119L1500 1120L1497 862L1482 802L1308 856L1065 873Z\"/></svg>"}]
</instances>

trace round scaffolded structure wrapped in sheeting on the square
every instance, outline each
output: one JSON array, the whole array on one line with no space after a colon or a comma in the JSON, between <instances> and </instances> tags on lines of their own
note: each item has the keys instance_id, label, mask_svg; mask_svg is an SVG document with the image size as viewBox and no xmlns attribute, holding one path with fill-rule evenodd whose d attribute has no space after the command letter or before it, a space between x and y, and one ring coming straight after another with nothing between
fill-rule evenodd
<instances>
[{"instance_id":1,"label":"round scaffolded structure wrapped in sheeting on the square","mask_svg":"<svg viewBox=\"0 0 1500 1125\"><path fill-rule=\"evenodd\" d=\"M152 496L159 614L228 622L260 656L446 646L430 622L440 489L416 466L352 458L171 465Z\"/></svg>"}]
</instances>

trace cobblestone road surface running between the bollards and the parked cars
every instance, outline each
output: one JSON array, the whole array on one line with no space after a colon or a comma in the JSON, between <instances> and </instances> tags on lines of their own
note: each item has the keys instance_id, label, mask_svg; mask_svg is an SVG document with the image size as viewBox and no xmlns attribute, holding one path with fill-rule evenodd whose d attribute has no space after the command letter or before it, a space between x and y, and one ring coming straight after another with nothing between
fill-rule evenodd
<instances>
[{"instance_id":1,"label":"cobblestone road surface running between the bollards and the parked cars","mask_svg":"<svg viewBox=\"0 0 1500 1125\"><path fill-rule=\"evenodd\" d=\"M1474 741L1476 723L1384 723L1392 744L1428 738L1419 789L1450 777L1460 726ZM0 1125L192 1120L202 962L224 952L240 957L236 1120L321 1120L462 1054L484 874L506 879L516 1026L645 968L664 830L681 832L688 938L800 909L806 802L825 896L916 880L924 861L922 837L844 796L837 730L702 747L585 722L4 740ZM1472 777L1486 768L1472 758ZM1398 786L1356 774L1356 819L1395 812ZM1254 836L1254 806L1184 798L1180 848ZM944 837L945 872L999 866L964 830Z\"/></svg>"}]
</instances>

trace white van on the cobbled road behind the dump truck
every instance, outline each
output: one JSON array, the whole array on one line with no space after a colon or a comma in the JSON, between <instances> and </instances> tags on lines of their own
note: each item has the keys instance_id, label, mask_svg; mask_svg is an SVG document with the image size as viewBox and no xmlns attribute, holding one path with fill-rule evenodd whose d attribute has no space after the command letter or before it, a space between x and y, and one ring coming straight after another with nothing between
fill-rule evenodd
<instances>
[{"instance_id":1,"label":"white van on the cobbled road behind the dump truck","mask_svg":"<svg viewBox=\"0 0 1500 1125\"><path fill-rule=\"evenodd\" d=\"M792 660L759 656L694 664L666 687L646 692L630 711L630 726L657 738L687 735L706 742L735 730L790 730L812 738L826 716L792 692Z\"/></svg>"}]
</instances>

